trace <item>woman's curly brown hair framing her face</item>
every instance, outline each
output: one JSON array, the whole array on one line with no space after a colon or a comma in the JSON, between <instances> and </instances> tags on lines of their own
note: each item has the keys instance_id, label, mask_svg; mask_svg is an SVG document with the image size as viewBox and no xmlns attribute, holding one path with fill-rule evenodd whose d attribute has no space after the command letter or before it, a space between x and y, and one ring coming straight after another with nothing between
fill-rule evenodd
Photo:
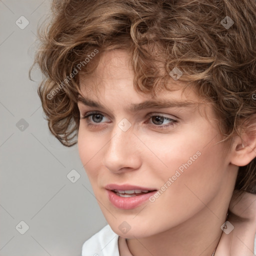
<instances>
[{"instance_id":1,"label":"woman's curly brown hair framing her face","mask_svg":"<svg viewBox=\"0 0 256 256\"><path fill-rule=\"evenodd\" d=\"M241 125L255 134L255 24L255 0L53 0L34 60L50 131L65 146L77 142L79 76L104 50L125 49L137 91L168 89L178 67L179 80L211 102L223 141ZM255 192L255 184L256 158L239 167L235 188Z\"/></svg>"}]
</instances>

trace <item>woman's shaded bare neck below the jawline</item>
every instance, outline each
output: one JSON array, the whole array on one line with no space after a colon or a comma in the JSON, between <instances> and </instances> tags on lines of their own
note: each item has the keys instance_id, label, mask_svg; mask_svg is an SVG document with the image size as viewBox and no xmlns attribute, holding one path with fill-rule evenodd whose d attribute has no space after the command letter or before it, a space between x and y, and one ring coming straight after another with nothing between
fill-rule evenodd
<instances>
[{"instance_id":1,"label":"woman's shaded bare neck below the jawline","mask_svg":"<svg viewBox=\"0 0 256 256\"><path fill-rule=\"evenodd\" d=\"M127 239L131 254L211 256L222 233L220 226L226 220L229 200L228 195L219 193L207 206L181 224L149 237Z\"/></svg>"}]
</instances>

